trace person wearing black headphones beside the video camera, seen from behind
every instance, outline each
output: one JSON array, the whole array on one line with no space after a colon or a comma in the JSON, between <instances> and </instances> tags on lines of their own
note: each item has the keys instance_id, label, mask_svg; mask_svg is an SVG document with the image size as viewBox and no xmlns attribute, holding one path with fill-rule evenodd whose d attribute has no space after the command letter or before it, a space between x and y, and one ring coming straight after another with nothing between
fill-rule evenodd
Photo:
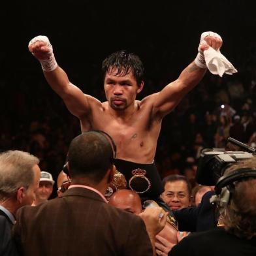
<instances>
[{"instance_id":1,"label":"person wearing black headphones beside the video camera, seen from behind","mask_svg":"<svg viewBox=\"0 0 256 256\"><path fill-rule=\"evenodd\" d=\"M256 255L256 156L228 167L216 184L221 226L184 238L168 255Z\"/></svg>"}]
</instances>

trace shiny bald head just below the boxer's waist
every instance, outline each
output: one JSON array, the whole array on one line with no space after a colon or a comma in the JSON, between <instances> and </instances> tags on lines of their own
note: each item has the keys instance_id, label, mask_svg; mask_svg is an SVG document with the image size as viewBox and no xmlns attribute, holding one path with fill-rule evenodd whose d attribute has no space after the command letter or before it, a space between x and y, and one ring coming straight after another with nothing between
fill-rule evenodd
<instances>
[{"instance_id":1,"label":"shiny bald head just below the boxer's waist","mask_svg":"<svg viewBox=\"0 0 256 256\"><path fill-rule=\"evenodd\" d=\"M120 208L132 214L140 214L142 212L141 200L137 193L128 189L120 189L116 191L108 202L116 208Z\"/></svg>"}]
</instances>

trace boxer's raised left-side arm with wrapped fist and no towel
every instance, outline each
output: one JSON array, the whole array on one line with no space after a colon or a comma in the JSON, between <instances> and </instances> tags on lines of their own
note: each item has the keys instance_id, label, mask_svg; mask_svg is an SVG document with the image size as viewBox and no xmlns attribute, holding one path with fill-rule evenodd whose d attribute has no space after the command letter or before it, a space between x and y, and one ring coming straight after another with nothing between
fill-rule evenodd
<instances>
[{"instance_id":1,"label":"boxer's raised left-side arm with wrapped fist and no towel","mask_svg":"<svg viewBox=\"0 0 256 256\"><path fill-rule=\"evenodd\" d=\"M69 111L80 118L88 114L90 104L97 99L85 95L71 84L65 71L57 65L53 48L45 36L38 36L29 42L29 51L42 65L44 76L54 91L63 99Z\"/></svg>"}]
</instances>

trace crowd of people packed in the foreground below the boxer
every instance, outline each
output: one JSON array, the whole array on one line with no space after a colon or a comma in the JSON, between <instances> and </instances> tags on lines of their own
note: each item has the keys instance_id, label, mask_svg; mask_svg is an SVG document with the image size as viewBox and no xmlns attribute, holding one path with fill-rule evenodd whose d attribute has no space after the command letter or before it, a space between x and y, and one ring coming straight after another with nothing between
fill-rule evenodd
<instances>
[{"instance_id":1,"label":"crowd of people packed in the foreground below the boxer","mask_svg":"<svg viewBox=\"0 0 256 256\"><path fill-rule=\"evenodd\" d=\"M153 200L142 204L131 189L106 200L116 170L113 154L101 131L76 136L68 174L59 174L61 194L48 200L54 180L40 172L37 157L0 153L1 255L255 255L255 156L226 168L198 206L191 207L185 176L166 177L161 198L171 210L165 211Z\"/></svg>"}]
</instances>

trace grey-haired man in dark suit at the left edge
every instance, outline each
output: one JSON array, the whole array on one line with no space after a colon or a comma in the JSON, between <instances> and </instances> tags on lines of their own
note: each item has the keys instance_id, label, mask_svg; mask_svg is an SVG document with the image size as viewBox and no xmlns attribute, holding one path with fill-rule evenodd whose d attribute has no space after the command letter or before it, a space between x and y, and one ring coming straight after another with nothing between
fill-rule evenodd
<instances>
[{"instance_id":1,"label":"grey-haired man in dark suit at the left edge","mask_svg":"<svg viewBox=\"0 0 256 256\"><path fill-rule=\"evenodd\" d=\"M39 187L39 159L27 152L0 154L0 255L16 255L11 228L18 208L32 204Z\"/></svg>"}]
</instances>

